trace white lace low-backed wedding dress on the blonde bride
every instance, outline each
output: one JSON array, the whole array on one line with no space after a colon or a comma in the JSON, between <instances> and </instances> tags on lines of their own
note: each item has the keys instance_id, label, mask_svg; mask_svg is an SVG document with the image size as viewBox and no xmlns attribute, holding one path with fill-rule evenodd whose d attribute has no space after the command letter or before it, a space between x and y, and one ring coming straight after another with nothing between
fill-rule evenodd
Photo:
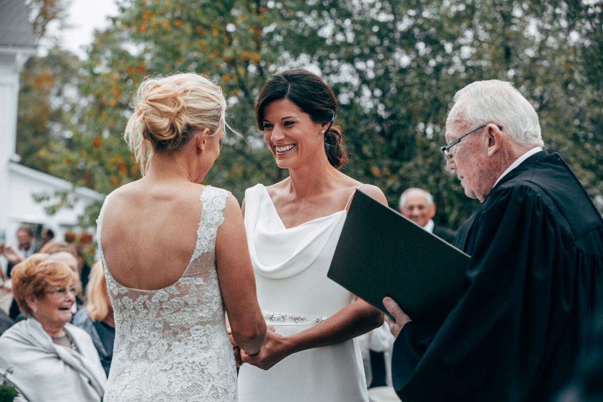
<instances>
[{"instance_id":1,"label":"white lace low-backed wedding dress on the blonde bride","mask_svg":"<svg viewBox=\"0 0 603 402\"><path fill-rule=\"evenodd\" d=\"M215 264L215 240L230 192L206 186L197 244L182 277L163 289L119 284L98 250L115 314L115 346L105 402L236 401L235 358L224 318ZM157 267L160 269L160 266Z\"/></svg>"}]
</instances>

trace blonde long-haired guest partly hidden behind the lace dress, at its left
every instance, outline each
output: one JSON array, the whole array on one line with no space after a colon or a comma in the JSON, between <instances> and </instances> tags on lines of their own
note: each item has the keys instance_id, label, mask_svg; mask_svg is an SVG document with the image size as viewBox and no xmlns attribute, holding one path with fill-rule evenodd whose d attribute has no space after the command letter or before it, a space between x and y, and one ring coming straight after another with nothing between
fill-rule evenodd
<instances>
[{"instance_id":1,"label":"blonde long-haired guest partly hidden behind the lace dress, at its left","mask_svg":"<svg viewBox=\"0 0 603 402\"><path fill-rule=\"evenodd\" d=\"M109 367L113 357L113 341L115 340L115 321L113 306L107 292L107 282L103 271L103 262L92 266L86 289L88 304L75 313L73 324L86 331L98 351L103 368L109 376Z\"/></svg>"}]
</instances>

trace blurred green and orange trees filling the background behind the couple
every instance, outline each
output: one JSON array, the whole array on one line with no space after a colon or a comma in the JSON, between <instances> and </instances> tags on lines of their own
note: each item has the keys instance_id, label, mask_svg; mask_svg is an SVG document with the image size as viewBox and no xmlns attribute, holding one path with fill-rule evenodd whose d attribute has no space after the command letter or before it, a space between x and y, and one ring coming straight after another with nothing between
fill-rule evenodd
<instances>
[{"instance_id":1,"label":"blurred green and orange trees filling the background behind the couple","mask_svg":"<svg viewBox=\"0 0 603 402\"><path fill-rule=\"evenodd\" d=\"M302 67L338 96L352 152L343 171L379 186L392 207L407 187L432 192L435 220L456 229L478 202L444 169L447 111L456 90L496 78L532 102L545 148L603 210L602 12L601 0L124 1L87 60L57 47L28 61L17 152L25 165L109 193L140 177L121 139L131 93L150 75L195 71L223 87L241 134L227 136L206 182L241 201L247 187L286 177L253 104L270 75Z\"/></svg>"}]
</instances>

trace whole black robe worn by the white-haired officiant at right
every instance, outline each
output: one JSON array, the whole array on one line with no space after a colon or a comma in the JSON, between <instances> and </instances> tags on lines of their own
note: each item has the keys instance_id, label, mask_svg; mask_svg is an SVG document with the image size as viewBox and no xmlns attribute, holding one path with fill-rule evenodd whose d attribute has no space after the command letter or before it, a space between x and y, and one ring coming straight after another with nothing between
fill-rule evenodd
<instances>
[{"instance_id":1,"label":"whole black robe worn by the white-haired officiant at right","mask_svg":"<svg viewBox=\"0 0 603 402\"><path fill-rule=\"evenodd\" d=\"M550 401L572 377L603 300L603 219L584 187L559 155L538 152L496 184L454 245L472 256L464 289L441 326L402 328L397 394Z\"/></svg>"}]
</instances>

